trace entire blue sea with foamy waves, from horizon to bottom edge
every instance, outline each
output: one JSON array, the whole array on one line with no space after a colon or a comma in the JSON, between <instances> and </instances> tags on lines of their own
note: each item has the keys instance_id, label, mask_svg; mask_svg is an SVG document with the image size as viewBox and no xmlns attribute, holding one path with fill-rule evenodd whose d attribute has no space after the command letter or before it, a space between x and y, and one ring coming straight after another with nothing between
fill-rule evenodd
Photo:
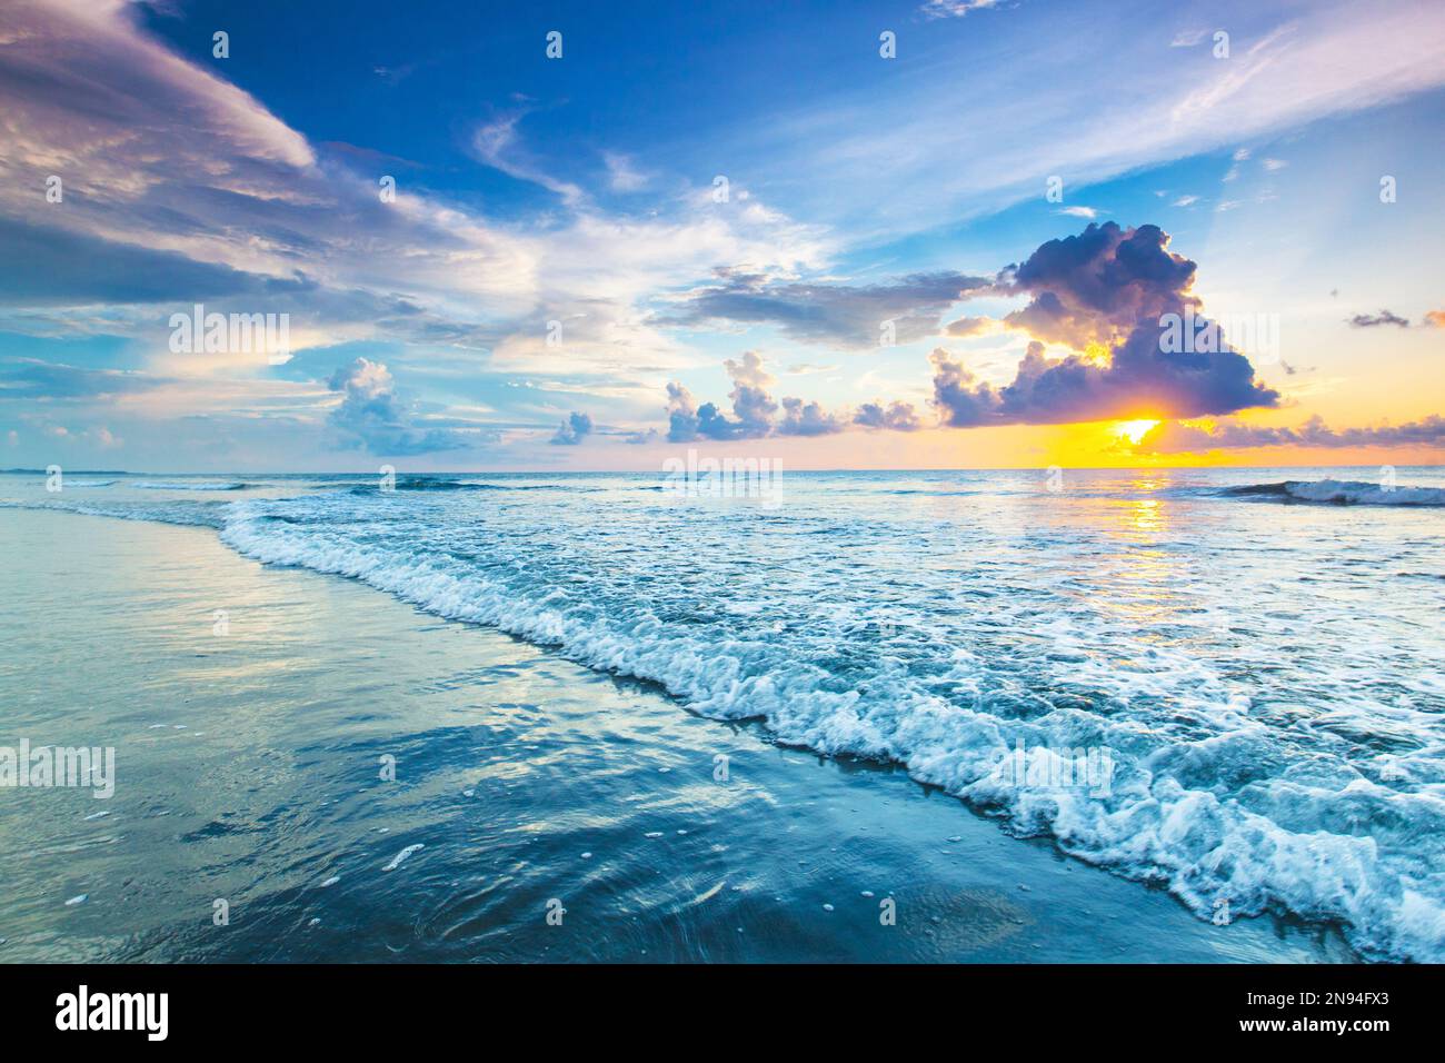
<instances>
[{"instance_id":1,"label":"entire blue sea with foamy waves, from horizon to bottom edge","mask_svg":"<svg viewBox=\"0 0 1445 1063\"><path fill-rule=\"evenodd\" d=\"M0 476L0 745L88 720L120 777L95 820L6 803L0 850L45 859L0 898L0 959L1445 960L1445 471L1394 476ZM66 568L35 563L58 542ZM324 602L277 613L292 593ZM58 677L77 646L101 671ZM412 697L445 710L400 726ZM277 793L179 785L162 739L197 733ZM483 800L468 833L454 804ZM176 859L214 888L156 874ZM130 868L181 892L66 923ZM1045 934L1051 889L1077 924ZM217 936L217 891L264 915ZM607 915L568 943L588 891ZM906 947L890 898L926 913Z\"/></svg>"}]
</instances>

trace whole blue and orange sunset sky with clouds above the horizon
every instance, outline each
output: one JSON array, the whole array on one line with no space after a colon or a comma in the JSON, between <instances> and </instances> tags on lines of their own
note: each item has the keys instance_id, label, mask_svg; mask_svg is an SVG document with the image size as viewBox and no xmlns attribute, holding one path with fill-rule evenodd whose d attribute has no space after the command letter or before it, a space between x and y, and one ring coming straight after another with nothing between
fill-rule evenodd
<instances>
[{"instance_id":1,"label":"whole blue and orange sunset sky with clouds above the horizon","mask_svg":"<svg viewBox=\"0 0 1445 1063\"><path fill-rule=\"evenodd\" d=\"M1438 464L1445 7L6 0L0 467Z\"/></svg>"}]
</instances>

